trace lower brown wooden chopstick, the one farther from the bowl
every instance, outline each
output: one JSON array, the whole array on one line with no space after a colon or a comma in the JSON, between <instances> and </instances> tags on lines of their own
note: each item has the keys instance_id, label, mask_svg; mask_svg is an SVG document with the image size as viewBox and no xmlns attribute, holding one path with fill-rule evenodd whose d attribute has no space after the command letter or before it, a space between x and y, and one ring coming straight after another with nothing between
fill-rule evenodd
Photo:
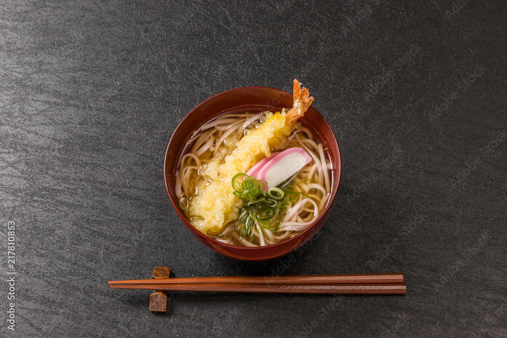
<instances>
[{"instance_id":1,"label":"lower brown wooden chopstick, the one farther from the bowl","mask_svg":"<svg viewBox=\"0 0 507 338\"><path fill-rule=\"evenodd\" d=\"M405 294L404 283L370 284L157 284L157 290L218 291L218 292L277 292L277 293L342 293L342 294ZM153 284L110 285L114 289L153 290Z\"/></svg>"}]
</instances>

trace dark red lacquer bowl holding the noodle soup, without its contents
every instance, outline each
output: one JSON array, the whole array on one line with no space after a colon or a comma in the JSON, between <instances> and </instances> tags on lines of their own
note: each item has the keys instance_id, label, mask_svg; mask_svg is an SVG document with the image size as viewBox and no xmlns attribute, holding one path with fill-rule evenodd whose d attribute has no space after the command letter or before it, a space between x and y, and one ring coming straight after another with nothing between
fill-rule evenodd
<instances>
[{"instance_id":1,"label":"dark red lacquer bowl holding the noodle soup, without its contents","mask_svg":"<svg viewBox=\"0 0 507 338\"><path fill-rule=\"evenodd\" d=\"M332 169L332 193L327 208L307 230L291 239L278 244L263 247L241 247L216 241L195 229L186 219L185 214L179 208L178 198L175 193L176 170L178 159L182 156L187 140L199 126L222 114L239 114L241 112L259 112L263 110L280 111L281 108L291 108L293 96L281 90L264 87L246 87L232 89L217 94L205 100L192 109L178 125L167 146L165 155L164 173L167 193L176 214L182 220L187 230L202 244L224 256L243 260L267 260L283 256L292 252L308 242L317 231L322 228L328 219L333 203L338 192L341 175L340 149L333 130L319 112L310 106L301 123L309 128L327 151Z\"/></svg>"}]
</instances>

